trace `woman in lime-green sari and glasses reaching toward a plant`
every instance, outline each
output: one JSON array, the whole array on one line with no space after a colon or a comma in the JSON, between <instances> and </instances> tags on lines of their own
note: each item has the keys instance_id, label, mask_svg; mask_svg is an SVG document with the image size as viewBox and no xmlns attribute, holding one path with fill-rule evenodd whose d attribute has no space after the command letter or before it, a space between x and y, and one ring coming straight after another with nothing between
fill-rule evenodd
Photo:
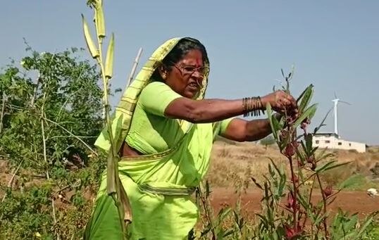
<instances>
[{"instance_id":1,"label":"woman in lime-green sari and glasses reaching toward a plant","mask_svg":"<svg viewBox=\"0 0 379 240\"><path fill-rule=\"evenodd\" d=\"M199 211L192 192L209 168L216 135L256 141L271 133L268 120L242 120L264 110L296 113L284 91L237 100L204 99L209 59L189 37L170 39L144 65L116 108L113 131L120 149L119 176L132 208L132 239L186 239ZM109 151L103 132L96 145ZM87 225L86 239L121 239L106 176Z\"/></svg>"}]
</instances>

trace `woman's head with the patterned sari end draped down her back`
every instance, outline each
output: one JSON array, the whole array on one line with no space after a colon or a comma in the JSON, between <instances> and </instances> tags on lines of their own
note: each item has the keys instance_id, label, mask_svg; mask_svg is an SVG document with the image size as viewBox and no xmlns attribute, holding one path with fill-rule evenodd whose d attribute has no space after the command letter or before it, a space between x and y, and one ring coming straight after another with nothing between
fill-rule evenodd
<instances>
[{"instance_id":1,"label":"woman's head with the patterned sari end draped down her back","mask_svg":"<svg viewBox=\"0 0 379 240\"><path fill-rule=\"evenodd\" d=\"M128 134L132 114L142 89L150 82L165 82L173 91L192 99L203 99L208 84L209 59L206 49L190 37L169 39L154 51L135 80L124 91L112 121L116 149ZM108 133L104 129L95 146L109 151Z\"/></svg>"}]
</instances>

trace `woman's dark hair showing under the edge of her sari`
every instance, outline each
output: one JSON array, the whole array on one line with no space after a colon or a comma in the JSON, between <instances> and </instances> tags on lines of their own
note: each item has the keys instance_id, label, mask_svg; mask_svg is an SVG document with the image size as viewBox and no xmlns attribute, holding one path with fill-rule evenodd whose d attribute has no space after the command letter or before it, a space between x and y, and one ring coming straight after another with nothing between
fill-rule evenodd
<instances>
[{"instance_id":1,"label":"woman's dark hair showing under the edge of her sari","mask_svg":"<svg viewBox=\"0 0 379 240\"><path fill-rule=\"evenodd\" d=\"M167 56L163 58L161 62L163 68L166 68L170 71L175 63L178 63L189 51L192 50L201 51L203 63L209 63L205 46L201 44L201 42L199 42L197 39L194 39L192 37L185 37L180 39L178 44L176 44L173 49L167 54ZM162 77L159 74L159 68L156 68L152 75L152 78L155 81L163 82Z\"/></svg>"}]
</instances>

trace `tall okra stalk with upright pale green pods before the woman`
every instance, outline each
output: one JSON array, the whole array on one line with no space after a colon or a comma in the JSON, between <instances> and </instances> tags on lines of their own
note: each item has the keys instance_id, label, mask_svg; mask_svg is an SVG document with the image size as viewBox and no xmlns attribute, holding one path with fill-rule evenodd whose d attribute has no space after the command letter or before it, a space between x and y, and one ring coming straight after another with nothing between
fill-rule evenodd
<instances>
[{"instance_id":1,"label":"tall okra stalk with upright pale green pods before the woman","mask_svg":"<svg viewBox=\"0 0 379 240\"><path fill-rule=\"evenodd\" d=\"M107 191L108 195L112 196L117 208L118 217L120 219L120 227L123 230L124 236L126 236L126 226L124 222L124 206L127 210L128 203L126 201L125 191L123 191L122 183L118 177L118 149L116 149L116 143L112 132L111 117L110 117L110 106L108 100L108 89L110 87L110 80L113 75L113 54L114 54L114 34L111 34L111 39L108 43L108 49L106 51L106 58L103 54L103 44L106 37L106 28L104 20L104 10L103 2L101 0L89 0L87 5L94 10L94 25L97 32L97 44L94 44L91 34L89 32L89 26L85 17L82 15L83 32L85 34L85 41L89 53L91 53L92 58L97 60L97 63L101 69L101 78L103 80L103 101L104 101L104 117L106 122L106 130L108 133L108 140L111 144L111 149L108 153L108 163L107 163Z\"/></svg>"}]
</instances>

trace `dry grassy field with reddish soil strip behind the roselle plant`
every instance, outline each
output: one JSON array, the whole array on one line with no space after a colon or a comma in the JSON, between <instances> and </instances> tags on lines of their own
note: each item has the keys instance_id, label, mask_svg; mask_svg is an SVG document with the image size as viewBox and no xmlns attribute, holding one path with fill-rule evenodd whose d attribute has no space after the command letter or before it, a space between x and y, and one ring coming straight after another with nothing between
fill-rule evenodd
<instances>
[{"instance_id":1,"label":"dry grassy field with reddish soil strip behind the roselle plant","mask_svg":"<svg viewBox=\"0 0 379 240\"><path fill-rule=\"evenodd\" d=\"M348 165L332 170L323 175L323 182L334 187L351 175L359 175L356 182L340 194L331 210L337 208L348 210L349 213L360 213L361 216L379 210L379 196L368 196L366 190L377 188L379 148L369 147L366 153L355 151L330 151L340 162L351 162ZM285 163L285 158L276 146L262 146L261 144L235 143L231 141L216 141L213 147L211 167L207 179L211 184L211 203L213 208L220 210L225 205L234 206L237 201L236 189L242 188L242 210L254 214L261 209L262 192L258 189L251 177L263 181L263 175L268 175L268 158L276 163ZM316 191L314 199L321 198L320 191Z\"/></svg>"}]
</instances>

